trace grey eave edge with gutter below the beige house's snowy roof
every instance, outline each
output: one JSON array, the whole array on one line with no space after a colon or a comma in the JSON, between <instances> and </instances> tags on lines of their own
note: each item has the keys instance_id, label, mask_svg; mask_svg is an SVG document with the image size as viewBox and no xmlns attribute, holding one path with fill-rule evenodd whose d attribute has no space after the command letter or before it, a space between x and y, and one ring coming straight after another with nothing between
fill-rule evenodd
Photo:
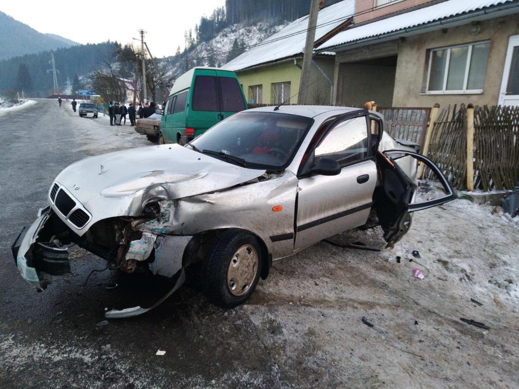
<instances>
[{"instance_id":1,"label":"grey eave edge with gutter below the beige house's snowy roof","mask_svg":"<svg viewBox=\"0 0 519 389\"><path fill-rule=\"evenodd\" d=\"M441 29L448 29L452 27L457 27L464 24L470 24L476 21L483 21L489 19L495 19L502 16L513 15L514 13L519 12L519 2L507 3L500 6L486 8L479 11L473 11L470 13L465 13L463 15L458 15L451 18L445 18L442 20L436 20L434 22L430 22L427 24L422 24L419 26L409 27L398 31L392 31L387 34L370 36L367 38L359 39L352 42L347 42L344 44L323 47L320 50L316 50L317 53L321 51L345 51L358 47L364 47L366 45L373 45L377 43L387 42L389 40L398 39L402 37L415 36L420 34L425 34L428 32L438 31ZM373 22L376 23L376 22ZM369 23L368 23L369 24ZM364 24L367 25L367 24ZM351 29L353 30L354 27Z\"/></svg>"}]
</instances>

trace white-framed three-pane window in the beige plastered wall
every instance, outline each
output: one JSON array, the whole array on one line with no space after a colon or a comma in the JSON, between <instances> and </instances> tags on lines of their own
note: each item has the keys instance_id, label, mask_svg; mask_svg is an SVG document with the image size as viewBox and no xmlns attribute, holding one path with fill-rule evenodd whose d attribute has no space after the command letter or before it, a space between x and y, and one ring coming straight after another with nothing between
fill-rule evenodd
<instances>
[{"instance_id":1,"label":"white-framed three-pane window in the beige plastered wall","mask_svg":"<svg viewBox=\"0 0 519 389\"><path fill-rule=\"evenodd\" d=\"M490 42L431 50L427 93L481 93Z\"/></svg>"}]
</instances>

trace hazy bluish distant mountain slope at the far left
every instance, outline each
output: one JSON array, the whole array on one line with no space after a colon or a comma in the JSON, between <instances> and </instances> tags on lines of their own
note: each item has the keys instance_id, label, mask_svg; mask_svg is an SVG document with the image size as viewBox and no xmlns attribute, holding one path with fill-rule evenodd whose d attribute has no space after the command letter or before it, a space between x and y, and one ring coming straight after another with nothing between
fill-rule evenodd
<instances>
[{"instance_id":1,"label":"hazy bluish distant mountain slope at the far left","mask_svg":"<svg viewBox=\"0 0 519 389\"><path fill-rule=\"evenodd\" d=\"M0 11L0 60L73 45L77 44L57 35L39 33Z\"/></svg>"}]
</instances>

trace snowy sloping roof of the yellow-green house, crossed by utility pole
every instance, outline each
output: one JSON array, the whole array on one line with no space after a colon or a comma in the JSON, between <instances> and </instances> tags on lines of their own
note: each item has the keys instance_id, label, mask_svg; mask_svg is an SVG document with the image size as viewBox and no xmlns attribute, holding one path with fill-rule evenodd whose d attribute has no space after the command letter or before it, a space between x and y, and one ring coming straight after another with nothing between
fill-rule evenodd
<instances>
[{"instance_id":1,"label":"snowy sloping roof of the yellow-green house, crossed by utility pole","mask_svg":"<svg viewBox=\"0 0 519 389\"><path fill-rule=\"evenodd\" d=\"M317 18L315 39L318 40L322 38L351 18L354 9L354 0L345 0L321 9ZM234 60L227 62L222 68L237 71L301 54L305 49L307 29L308 15L293 21L280 32L270 36L248 51L245 51Z\"/></svg>"}]
</instances>

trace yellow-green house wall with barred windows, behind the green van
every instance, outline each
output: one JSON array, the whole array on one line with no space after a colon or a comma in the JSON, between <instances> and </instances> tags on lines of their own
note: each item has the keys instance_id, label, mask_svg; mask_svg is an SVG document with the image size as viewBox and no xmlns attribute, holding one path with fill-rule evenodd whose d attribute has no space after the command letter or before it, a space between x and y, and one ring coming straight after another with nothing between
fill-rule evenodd
<instances>
[{"instance_id":1,"label":"yellow-green house wall with barred windows, behind the green van","mask_svg":"<svg viewBox=\"0 0 519 389\"><path fill-rule=\"evenodd\" d=\"M302 58L298 58L296 61L299 66L302 66ZM316 57L314 61L333 80L334 58ZM297 93L301 82L301 68L294 65L293 59L277 64L258 66L251 70L237 71L236 75L242 85L245 98L247 98L249 103L250 87L256 85L263 86L263 104L274 103L274 86L272 84L279 82L290 82L290 104L297 103ZM330 83L313 65L310 73L309 96L312 104L330 104Z\"/></svg>"}]
</instances>

